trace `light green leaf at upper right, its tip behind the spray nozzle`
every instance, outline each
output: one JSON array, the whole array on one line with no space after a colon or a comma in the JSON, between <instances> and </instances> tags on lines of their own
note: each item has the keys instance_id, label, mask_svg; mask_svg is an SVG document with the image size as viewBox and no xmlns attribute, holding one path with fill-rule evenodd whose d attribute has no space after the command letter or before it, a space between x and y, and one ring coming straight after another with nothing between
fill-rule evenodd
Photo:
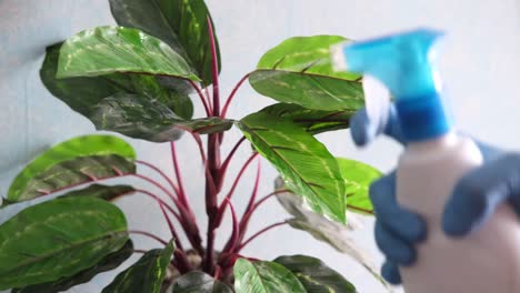
<instances>
[{"instance_id":1,"label":"light green leaf at upper right, its tip behind the spray nozzle","mask_svg":"<svg viewBox=\"0 0 520 293\"><path fill-rule=\"evenodd\" d=\"M363 105L360 75L334 72L330 46L339 36L296 37L269 50L249 75L259 93L307 109L357 110Z\"/></svg>"}]
</instances>

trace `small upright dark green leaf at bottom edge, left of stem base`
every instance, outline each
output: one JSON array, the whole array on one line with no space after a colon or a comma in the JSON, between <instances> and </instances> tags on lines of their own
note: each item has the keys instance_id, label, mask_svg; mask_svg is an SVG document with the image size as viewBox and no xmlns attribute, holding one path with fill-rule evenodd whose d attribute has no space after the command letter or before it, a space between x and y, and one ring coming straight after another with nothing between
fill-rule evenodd
<instances>
[{"instance_id":1,"label":"small upright dark green leaf at bottom edge, left of stem base","mask_svg":"<svg viewBox=\"0 0 520 293\"><path fill-rule=\"evenodd\" d=\"M137 263L118 274L102 293L160 293L173 251L171 241L164 249L148 251Z\"/></svg>"}]
</instances>

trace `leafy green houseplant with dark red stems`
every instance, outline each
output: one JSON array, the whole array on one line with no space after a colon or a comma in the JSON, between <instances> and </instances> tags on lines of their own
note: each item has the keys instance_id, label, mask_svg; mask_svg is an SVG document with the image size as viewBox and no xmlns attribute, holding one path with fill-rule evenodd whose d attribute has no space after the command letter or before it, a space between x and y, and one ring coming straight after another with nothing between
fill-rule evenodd
<instances>
[{"instance_id":1,"label":"leafy green houseplant with dark red stems","mask_svg":"<svg viewBox=\"0 0 520 293\"><path fill-rule=\"evenodd\" d=\"M328 47L344 39L317 36L284 41L267 52L258 68L221 101L219 49L203 1L112 0L110 4L122 28L94 28L50 46L41 79L51 93L98 129L170 143L176 178L137 160L128 143L110 135L72 139L42 153L14 179L4 205L58 192L61 196L28 208L0 225L0 287L66 290L137 252L144 255L104 292L159 292L173 280L174 292L193 286L214 292L229 292L231 286L237 292L320 292L323 287L353 292L346 279L310 256L262 262L240 254L257 235L286 223L348 252L348 243L336 234L347 229L346 210L371 213L366 189L379 173L359 162L333 158L313 137L347 128L352 112L362 105L359 77L334 73L328 62ZM246 80L281 103L241 120L227 118L229 104ZM200 98L206 118L191 119L190 94ZM224 132L233 125L244 138L221 160ZM177 162L174 141L182 134L197 141L206 170L209 221L204 241ZM231 190L222 190L229 162L238 148L247 146L246 141L254 148L251 156ZM280 171L284 182L259 198L257 176L246 213L239 218L232 205L233 191L258 154ZM157 171L163 182L137 173L137 164ZM163 194L100 184L124 176L150 182ZM157 200L172 241L128 231L124 215L109 201L134 193ZM293 216L247 238L251 215L273 196ZM214 247L214 234L228 211L233 218L232 234L223 247ZM180 232L187 234L188 244L181 243ZM134 250L129 233L157 239L164 247Z\"/></svg>"}]
</instances>

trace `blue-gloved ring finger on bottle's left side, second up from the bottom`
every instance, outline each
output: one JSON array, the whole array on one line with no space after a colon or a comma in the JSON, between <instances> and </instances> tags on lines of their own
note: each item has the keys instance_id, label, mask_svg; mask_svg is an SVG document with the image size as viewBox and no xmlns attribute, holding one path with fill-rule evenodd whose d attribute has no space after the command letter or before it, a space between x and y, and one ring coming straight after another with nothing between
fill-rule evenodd
<instances>
[{"instance_id":1,"label":"blue-gloved ring finger on bottle's left side, second up from the bottom","mask_svg":"<svg viewBox=\"0 0 520 293\"><path fill-rule=\"evenodd\" d=\"M413 244L392 234L380 222L376 222L376 243L387 259L401 265L411 265L417 259Z\"/></svg>"}]
</instances>

